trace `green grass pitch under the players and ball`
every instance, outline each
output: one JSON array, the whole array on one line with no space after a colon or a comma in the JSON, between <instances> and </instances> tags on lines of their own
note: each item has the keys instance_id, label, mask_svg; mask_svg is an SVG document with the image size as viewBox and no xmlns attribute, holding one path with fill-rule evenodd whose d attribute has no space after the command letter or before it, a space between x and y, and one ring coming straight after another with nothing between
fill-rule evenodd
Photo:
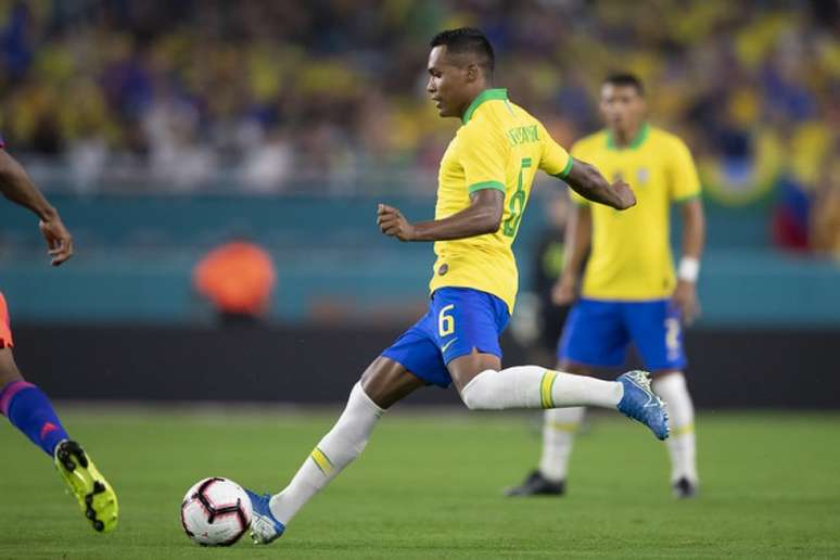
<instances>
[{"instance_id":1,"label":"green grass pitch under the players and ball","mask_svg":"<svg viewBox=\"0 0 840 560\"><path fill-rule=\"evenodd\" d=\"M120 499L94 534L50 461L0 424L0 558L838 558L840 413L698 419L701 496L675 501L662 444L599 415L562 499L504 498L537 460L537 415L386 415L362 457L257 548L193 545L178 522L196 480L279 489L339 413L60 407Z\"/></svg>"}]
</instances>

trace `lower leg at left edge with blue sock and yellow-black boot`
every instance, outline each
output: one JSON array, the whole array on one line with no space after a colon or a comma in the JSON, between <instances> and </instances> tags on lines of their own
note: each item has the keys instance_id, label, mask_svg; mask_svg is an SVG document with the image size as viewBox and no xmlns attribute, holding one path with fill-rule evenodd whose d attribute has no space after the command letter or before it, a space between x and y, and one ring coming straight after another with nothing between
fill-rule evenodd
<instances>
[{"instance_id":1,"label":"lower leg at left edge with blue sock and yellow-black boot","mask_svg":"<svg viewBox=\"0 0 840 560\"><path fill-rule=\"evenodd\" d=\"M0 387L0 413L53 458L55 468L94 530L112 531L118 506L111 485L81 447L71 441L47 395L17 373L9 348L0 349L0 377L15 379Z\"/></svg>"}]
</instances>

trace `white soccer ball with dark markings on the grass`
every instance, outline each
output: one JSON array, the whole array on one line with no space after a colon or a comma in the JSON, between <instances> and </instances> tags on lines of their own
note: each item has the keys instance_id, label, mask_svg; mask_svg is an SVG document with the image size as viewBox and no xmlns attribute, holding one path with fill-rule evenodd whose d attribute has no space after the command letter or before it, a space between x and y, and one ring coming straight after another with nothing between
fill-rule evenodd
<instances>
[{"instance_id":1,"label":"white soccer ball with dark markings on the grass","mask_svg":"<svg viewBox=\"0 0 840 560\"><path fill-rule=\"evenodd\" d=\"M201 480L183 497L181 525L202 546L230 546L251 526L251 498L228 479Z\"/></svg>"}]
</instances>

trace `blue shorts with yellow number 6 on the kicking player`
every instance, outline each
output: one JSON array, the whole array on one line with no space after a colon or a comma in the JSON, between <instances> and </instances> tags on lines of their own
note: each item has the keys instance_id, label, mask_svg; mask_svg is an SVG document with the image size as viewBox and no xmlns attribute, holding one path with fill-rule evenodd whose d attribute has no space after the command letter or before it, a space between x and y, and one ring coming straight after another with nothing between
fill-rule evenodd
<instances>
[{"instance_id":1,"label":"blue shorts with yellow number 6 on the kicking player","mask_svg":"<svg viewBox=\"0 0 840 560\"><path fill-rule=\"evenodd\" d=\"M427 313L382 353L428 382L448 387L446 365L478 348L501 358L499 336L510 314L495 295L470 288L440 288Z\"/></svg>"}]
</instances>

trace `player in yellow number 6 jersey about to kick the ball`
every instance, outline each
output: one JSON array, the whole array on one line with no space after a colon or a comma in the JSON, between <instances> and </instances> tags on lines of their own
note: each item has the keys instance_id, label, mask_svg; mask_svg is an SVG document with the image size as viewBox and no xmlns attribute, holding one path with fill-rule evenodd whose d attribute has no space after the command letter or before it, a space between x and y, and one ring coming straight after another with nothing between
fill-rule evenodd
<instances>
[{"instance_id":1,"label":"player in yellow number 6 jersey about to kick the ball","mask_svg":"<svg viewBox=\"0 0 840 560\"><path fill-rule=\"evenodd\" d=\"M368 367L335 425L282 492L249 491L256 543L279 537L361 453L384 411L424 385L454 382L470 409L618 408L657 437L667 436L664 406L644 372L606 382L537 366L501 368L498 338L517 294L511 244L537 169L615 211L633 206L635 198L623 180L610 184L570 157L506 90L492 88L493 48L481 31L443 31L431 47L428 91L441 116L463 123L441 162L435 219L410 224L384 204L378 217L386 236L435 242L429 313Z\"/></svg>"}]
</instances>

